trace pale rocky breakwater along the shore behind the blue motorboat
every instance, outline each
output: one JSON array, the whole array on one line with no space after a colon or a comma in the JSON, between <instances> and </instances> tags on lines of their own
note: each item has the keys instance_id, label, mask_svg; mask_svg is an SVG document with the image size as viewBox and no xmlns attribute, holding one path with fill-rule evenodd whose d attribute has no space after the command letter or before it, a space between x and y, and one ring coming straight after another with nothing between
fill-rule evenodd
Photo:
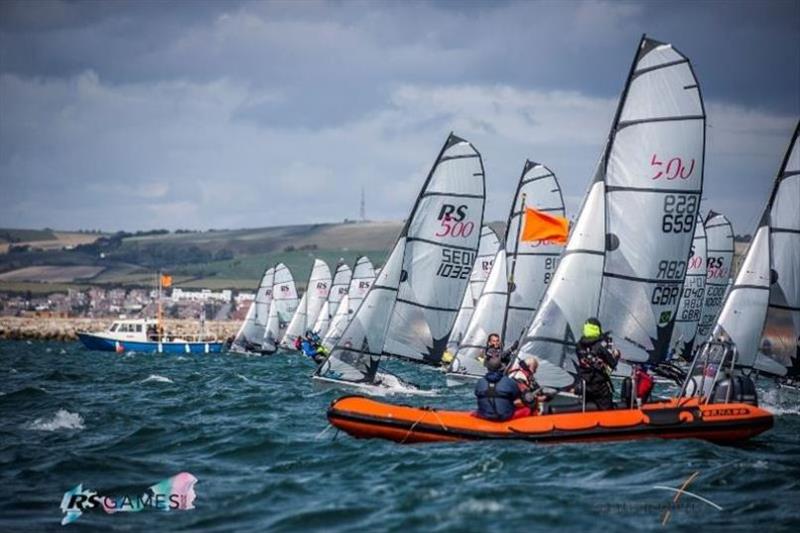
<instances>
[{"instance_id":1,"label":"pale rocky breakwater along the shore behind the blue motorboat","mask_svg":"<svg viewBox=\"0 0 800 533\"><path fill-rule=\"evenodd\" d=\"M78 331L102 331L113 321L113 318L0 317L0 339L75 341ZM208 321L206 331L225 340L236 334L239 325L235 321ZM190 337L200 330L196 320L165 320L164 326L170 334L179 337Z\"/></svg>"}]
</instances>

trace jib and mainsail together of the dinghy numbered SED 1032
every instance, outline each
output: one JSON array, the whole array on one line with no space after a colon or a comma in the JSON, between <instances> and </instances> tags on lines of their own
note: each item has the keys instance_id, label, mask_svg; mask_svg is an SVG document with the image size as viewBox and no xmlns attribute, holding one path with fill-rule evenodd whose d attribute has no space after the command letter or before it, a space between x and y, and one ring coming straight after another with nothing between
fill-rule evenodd
<instances>
[{"instance_id":1,"label":"jib and mainsail together of the dinghy numbered SED 1032","mask_svg":"<svg viewBox=\"0 0 800 533\"><path fill-rule=\"evenodd\" d=\"M318 376L375 383L383 353L441 359L478 250L484 183L478 151L450 134L386 265Z\"/></svg>"}]
</instances>

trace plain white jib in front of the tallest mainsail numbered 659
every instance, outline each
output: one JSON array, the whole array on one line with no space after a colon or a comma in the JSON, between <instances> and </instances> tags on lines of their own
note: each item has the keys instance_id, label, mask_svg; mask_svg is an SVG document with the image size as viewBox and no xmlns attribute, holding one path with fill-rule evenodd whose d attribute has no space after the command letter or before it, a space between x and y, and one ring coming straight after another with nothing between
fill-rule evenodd
<instances>
[{"instance_id":1,"label":"plain white jib in front of the tallest mainsail numbered 659","mask_svg":"<svg viewBox=\"0 0 800 533\"><path fill-rule=\"evenodd\" d=\"M587 312L597 309L603 279L605 250L605 186L592 184L567 247L547 287L518 358L536 356L541 385L565 387L572 383L575 344Z\"/></svg>"}]
</instances>

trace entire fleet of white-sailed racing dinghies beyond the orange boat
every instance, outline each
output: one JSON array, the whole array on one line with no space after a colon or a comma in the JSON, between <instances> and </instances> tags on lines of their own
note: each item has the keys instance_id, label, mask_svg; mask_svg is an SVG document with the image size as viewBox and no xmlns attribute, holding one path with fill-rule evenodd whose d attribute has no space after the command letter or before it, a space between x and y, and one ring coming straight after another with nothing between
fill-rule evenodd
<instances>
[{"instance_id":1,"label":"entire fleet of white-sailed racing dinghies beyond the orange boat","mask_svg":"<svg viewBox=\"0 0 800 533\"><path fill-rule=\"evenodd\" d=\"M289 269L268 268L234 348L291 350L314 332L328 352L317 384L382 394L415 391L383 368L387 359L437 366L444 357L449 385L477 379L487 337L497 333L517 361L538 360L540 385L564 389L575 380L581 326L597 317L624 372L692 360L720 340L735 347L741 371L794 372L798 130L732 282L731 224L714 211L700 215L706 112L698 80L675 47L642 37L572 223L555 174L526 161L498 238L484 225L481 154L451 133L379 272L359 257L331 276L316 259L298 302ZM563 233L537 233L537 221Z\"/></svg>"}]
</instances>

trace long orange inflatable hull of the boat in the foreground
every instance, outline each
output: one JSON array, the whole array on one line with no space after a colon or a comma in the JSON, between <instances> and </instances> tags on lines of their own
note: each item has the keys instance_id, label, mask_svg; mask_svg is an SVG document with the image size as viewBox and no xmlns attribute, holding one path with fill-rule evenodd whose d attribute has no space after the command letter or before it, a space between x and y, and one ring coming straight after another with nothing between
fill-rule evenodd
<instances>
[{"instance_id":1,"label":"long orange inflatable hull of the boat in the foreground","mask_svg":"<svg viewBox=\"0 0 800 533\"><path fill-rule=\"evenodd\" d=\"M334 400L330 423L358 438L381 438L402 444L478 439L533 442L705 439L739 442L772 427L772 415L745 403L705 403L674 398L641 409L615 409L528 416L506 422L477 418L468 411L393 405L363 396Z\"/></svg>"}]
</instances>

